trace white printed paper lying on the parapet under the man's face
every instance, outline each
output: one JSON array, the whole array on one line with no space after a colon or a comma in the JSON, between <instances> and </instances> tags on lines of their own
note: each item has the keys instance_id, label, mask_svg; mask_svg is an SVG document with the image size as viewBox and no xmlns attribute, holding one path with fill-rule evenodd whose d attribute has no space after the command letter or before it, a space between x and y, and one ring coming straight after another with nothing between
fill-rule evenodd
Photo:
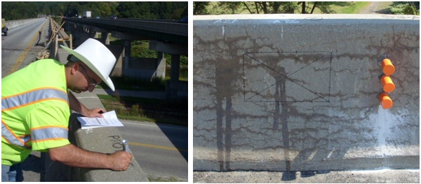
<instances>
[{"instance_id":1,"label":"white printed paper lying on the parapet under the man's face","mask_svg":"<svg viewBox=\"0 0 421 184\"><path fill-rule=\"evenodd\" d=\"M109 111L103 113L104 118L88 118L88 117L78 117L77 120L81 122L82 129L91 129L98 127L123 127L124 125L117 118L115 111Z\"/></svg>"}]
</instances>

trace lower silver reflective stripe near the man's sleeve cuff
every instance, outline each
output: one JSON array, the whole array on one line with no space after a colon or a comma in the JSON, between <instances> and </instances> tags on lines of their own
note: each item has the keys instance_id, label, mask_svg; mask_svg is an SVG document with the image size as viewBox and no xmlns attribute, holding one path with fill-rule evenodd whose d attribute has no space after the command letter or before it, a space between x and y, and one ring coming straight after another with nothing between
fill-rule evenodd
<instances>
[{"instance_id":1,"label":"lower silver reflective stripe near the man's sleeve cuff","mask_svg":"<svg viewBox=\"0 0 421 184\"><path fill-rule=\"evenodd\" d=\"M32 143L41 141L51 141L58 139L67 139L69 129L63 126L46 126L31 129Z\"/></svg>"}]
</instances>

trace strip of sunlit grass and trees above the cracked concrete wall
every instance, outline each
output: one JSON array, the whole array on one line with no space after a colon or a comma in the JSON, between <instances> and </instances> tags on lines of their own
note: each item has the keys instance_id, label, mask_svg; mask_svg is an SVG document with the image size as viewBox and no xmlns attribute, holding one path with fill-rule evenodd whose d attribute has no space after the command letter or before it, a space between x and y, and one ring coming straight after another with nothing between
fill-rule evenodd
<instances>
[{"instance_id":1,"label":"strip of sunlit grass and trees above the cracked concrete wall","mask_svg":"<svg viewBox=\"0 0 421 184\"><path fill-rule=\"evenodd\" d=\"M382 2L384 3L384 2ZM385 2L386 14L420 15L420 2ZM271 13L359 13L370 2L363 1L194 1L193 15L271 14Z\"/></svg>"}]
</instances>

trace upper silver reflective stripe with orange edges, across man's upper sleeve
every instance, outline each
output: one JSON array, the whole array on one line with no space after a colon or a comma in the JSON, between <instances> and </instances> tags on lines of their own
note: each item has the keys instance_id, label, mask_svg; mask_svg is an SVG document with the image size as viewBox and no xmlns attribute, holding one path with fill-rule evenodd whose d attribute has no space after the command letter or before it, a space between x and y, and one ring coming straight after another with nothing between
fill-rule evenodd
<instances>
[{"instance_id":1,"label":"upper silver reflective stripe with orange edges, across man's upper sleeve","mask_svg":"<svg viewBox=\"0 0 421 184\"><path fill-rule=\"evenodd\" d=\"M14 108L29 106L48 99L58 99L67 102L67 93L55 88L38 88L28 92L1 98L1 111L10 111Z\"/></svg>"}]
</instances>

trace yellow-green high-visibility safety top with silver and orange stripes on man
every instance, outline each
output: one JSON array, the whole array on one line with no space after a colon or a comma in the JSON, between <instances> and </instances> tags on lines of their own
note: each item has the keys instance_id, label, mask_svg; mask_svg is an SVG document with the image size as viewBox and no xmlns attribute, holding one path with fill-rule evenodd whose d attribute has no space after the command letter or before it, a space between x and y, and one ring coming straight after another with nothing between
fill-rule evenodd
<instances>
[{"instance_id":1,"label":"yellow-green high-visibility safety top with silver and orange stripes on man","mask_svg":"<svg viewBox=\"0 0 421 184\"><path fill-rule=\"evenodd\" d=\"M41 59L1 79L1 164L69 144L65 66Z\"/></svg>"}]
</instances>

